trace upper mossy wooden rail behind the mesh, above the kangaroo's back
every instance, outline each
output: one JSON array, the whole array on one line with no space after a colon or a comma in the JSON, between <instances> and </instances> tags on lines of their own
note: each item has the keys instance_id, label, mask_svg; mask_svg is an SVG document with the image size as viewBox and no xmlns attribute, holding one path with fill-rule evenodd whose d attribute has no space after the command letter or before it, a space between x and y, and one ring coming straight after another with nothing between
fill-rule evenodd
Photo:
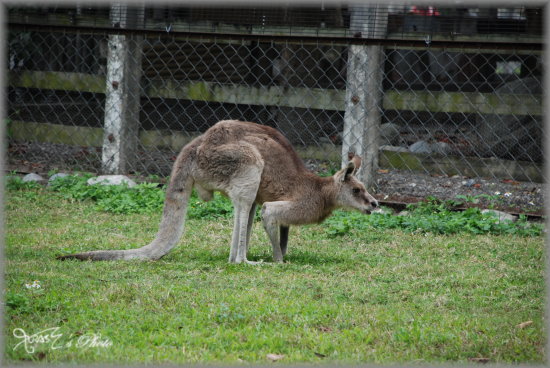
<instances>
[{"instance_id":1,"label":"upper mossy wooden rail behind the mesh, above the kangaroo's back","mask_svg":"<svg viewBox=\"0 0 550 368\"><path fill-rule=\"evenodd\" d=\"M10 72L12 87L105 93L105 77L63 72ZM345 110L345 91L280 86L251 87L204 81L176 82L152 79L143 91L149 97L199 100L219 103L286 106L320 110ZM386 90L382 105L388 110L541 115L541 95L478 92L434 92Z\"/></svg>"}]
</instances>

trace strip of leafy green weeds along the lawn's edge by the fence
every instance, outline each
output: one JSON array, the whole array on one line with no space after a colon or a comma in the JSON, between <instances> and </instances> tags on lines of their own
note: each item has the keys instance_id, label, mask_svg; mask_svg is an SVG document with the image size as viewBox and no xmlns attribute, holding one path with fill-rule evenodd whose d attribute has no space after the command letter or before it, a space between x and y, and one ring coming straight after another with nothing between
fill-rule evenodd
<instances>
[{"instance_id":1,"label":"strip of leafy green weeds along the lawn's edge by the fence","mask_svg":"<svg viewBox=\"0 0 550 368\"><path fill-rule=\"evenodd\" d=\"M91 175L72 175L54 180L50 189L73 201L90 200L99 211L130 214L158 213L164 204L165 191L157 183L142 183L133 188L126 185L88 185ZM40 187L37 183L24 183L19 178L8 182L8 189L23 190ZM33 193L33 192L29 192ZM34 193L36 194L36 193ZM462 199L462 198L458 198ZM425 202L407 206L408 216L372 214L364 216L357 212L337 211L327 220L326 234L329 237L342 236L355 230L368 228L403 229L410 232L431 232L435 234L515 234L539 236L542 226L531 224L525 216L518 221L500 221L490 213L483 214L478 208L454 211L460 202L440 201L428 198ZM209 202L204 202L193 192L188 205L188 217L192 219L218 219L231 217L233 205L229 199L216 193ZM258 214L256 215L258 216Z\"/></svg>"}]
</instances>

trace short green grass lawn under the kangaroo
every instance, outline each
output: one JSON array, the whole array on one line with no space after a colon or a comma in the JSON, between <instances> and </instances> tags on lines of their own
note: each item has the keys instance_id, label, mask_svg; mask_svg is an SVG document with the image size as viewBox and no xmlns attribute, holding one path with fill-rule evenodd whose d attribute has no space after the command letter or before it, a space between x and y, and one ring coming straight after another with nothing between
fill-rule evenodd
<instances>
[{"instance_id":1,"label":"short green grass lawn under the kangaroo","mask_svg":"<svg viewBox=\"0 0 550 368\"><path fill-rule=\"evenodd\" d=\"M230 218L190 219L159 261L62 262L145 245L160 213L99 212L46 190L6 191L5 208L8 363L546 359L542 236L294 227L276 265L256 223L249 258L268 263L250 266L227 263Z\"/></svg>"}]
</instances>

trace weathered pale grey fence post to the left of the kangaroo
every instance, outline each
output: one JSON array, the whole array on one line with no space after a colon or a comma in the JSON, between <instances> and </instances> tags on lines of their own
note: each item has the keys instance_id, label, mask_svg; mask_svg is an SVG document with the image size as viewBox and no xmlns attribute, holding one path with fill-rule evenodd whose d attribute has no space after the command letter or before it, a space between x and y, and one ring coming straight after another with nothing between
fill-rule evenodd
<instances>
[{"instance_id":1,"label":"weathered pale grey fence post to the left of the kangaroo","mask_svg":"<svg viewBox=\"0 0 550 368\"><path fill-rule=\"evenodd\" d=\"M120 28L143 23L143 7L111 6L111 22ZM142 36L109 35L105 88L102 171L128 172L138 143Z\"/></svg>"}]
</instances>

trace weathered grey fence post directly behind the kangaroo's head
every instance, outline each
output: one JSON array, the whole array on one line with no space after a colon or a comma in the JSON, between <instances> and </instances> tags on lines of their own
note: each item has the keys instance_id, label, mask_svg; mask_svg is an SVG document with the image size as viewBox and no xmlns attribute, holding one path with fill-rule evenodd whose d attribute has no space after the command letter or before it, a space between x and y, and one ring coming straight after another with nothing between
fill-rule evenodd
<instances>
[{"instance_id":1,"label":"weathered grey fence post directly behind the kangaroo's head","mask_svg":"<svg viewBox=\"0 0 550 368\"><path fill-rule=\"evenodd\" d=\"M387 6L353 6L350 30L356 37L382 38L387 14ZM361 156L358 177L369 189L374 187L378 168L383 52L382 46L374 45L350 45L348 51L342 164L348 152Z\"/></svg>"}]
</instances>

